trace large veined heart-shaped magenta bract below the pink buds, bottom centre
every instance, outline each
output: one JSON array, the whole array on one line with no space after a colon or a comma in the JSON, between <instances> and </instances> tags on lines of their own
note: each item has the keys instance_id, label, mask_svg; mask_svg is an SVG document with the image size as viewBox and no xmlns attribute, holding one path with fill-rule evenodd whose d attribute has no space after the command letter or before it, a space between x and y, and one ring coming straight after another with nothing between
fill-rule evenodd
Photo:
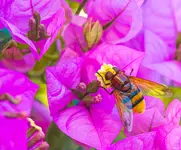
<instances>
[{"instance_id":1,"label":"large veined heart-shaped magenta bract below the pink buds, bottom centre","mask_svg":"<svg viewBox=\"0 0 181 150\"><path fill-rule=\"evenodd\" d=\"M91 115L90 115L91 114ZM96 149L104 149L119 133L116 120L101 109L75 106L54 116L58 127L71 138Z\"/></svg>"}]
</instances>

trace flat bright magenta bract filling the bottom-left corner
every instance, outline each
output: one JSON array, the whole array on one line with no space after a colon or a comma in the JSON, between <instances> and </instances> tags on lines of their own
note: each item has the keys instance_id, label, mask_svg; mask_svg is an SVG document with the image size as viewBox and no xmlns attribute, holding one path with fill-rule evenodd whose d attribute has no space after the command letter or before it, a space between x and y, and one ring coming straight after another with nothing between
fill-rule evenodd
<instances>
[{"instance_id":1,"label":"flat bright magenta bract filling the bottom-left corner","mask_svg":"<svg viewBox=\"0 0 181 150\"><path fill-rule=\"evenodd\" d=\"M0 117L0 149L27 150L26 119L8 119Z\"/></svg>"}]
</instances>

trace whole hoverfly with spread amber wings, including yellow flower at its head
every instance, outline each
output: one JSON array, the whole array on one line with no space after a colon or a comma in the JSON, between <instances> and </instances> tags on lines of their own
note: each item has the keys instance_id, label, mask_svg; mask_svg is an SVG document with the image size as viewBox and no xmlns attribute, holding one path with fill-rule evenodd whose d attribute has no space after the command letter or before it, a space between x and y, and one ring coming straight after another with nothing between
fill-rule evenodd
<instances>
[{"instance_id":1,"label":"whole hoverfly with spread amber wings, including yellow flower at its head","mask_svg":"<svg viewBox=\"0 0 181 150\"><path fill-rule=\"evenodd\" d=\"M104 64L102 67L96 73L96 76L105 86L113 88L110 94L114 94L121 121L130 132L132 130L133 112L143 113L145 111L143 96L160 98L172 95L172 92L164 85L134 76L127 76L124 71L120 71L119 68L112 65L106 66ZM107 69L104 67L107 67Z\"/></svg>"}]
</instances>

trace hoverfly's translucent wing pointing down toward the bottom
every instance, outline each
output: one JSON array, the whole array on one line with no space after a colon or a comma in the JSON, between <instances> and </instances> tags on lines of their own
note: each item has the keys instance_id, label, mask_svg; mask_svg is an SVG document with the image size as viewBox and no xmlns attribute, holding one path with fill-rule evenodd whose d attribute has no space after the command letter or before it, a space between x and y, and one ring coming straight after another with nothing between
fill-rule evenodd
<instances>
[{"instance_id":1,"label":"hoverfly's translucent wing pointing down toward the bottom","mask_svg":"<svg viewBox=\"0 0 181 150\"><path fill-rule=\"evenodd\" d=\"M123 104L124 96L120 94L118 90L114 90L114 96L116 100L116 106L118 109L118 113L120 115L122 124L124 127L131 132L132 131L132 122L133 122L133 111L132 111L132 103L131 100L127 102L127 106ZM128 106L130 108L128 108Z\"/></svg>"}]
</instances>

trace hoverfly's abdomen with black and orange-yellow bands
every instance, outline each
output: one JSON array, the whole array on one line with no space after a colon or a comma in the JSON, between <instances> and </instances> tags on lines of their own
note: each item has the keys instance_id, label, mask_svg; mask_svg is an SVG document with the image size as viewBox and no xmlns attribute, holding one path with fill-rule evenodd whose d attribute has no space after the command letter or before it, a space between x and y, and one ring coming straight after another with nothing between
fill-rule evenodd
<instances>
[{"instance_id":1,"label":"hoverfly's abdomen with black and orange-yellow bands","mask_svg":"<svg viewBox=\"0 0 181 150\"><path fill-rule=\"evenodd\" d=\"M132 106L128 106L129 109L133 109L134 112L143 113L145 111L145 101L142 92L133 85L130 93L122 93L124 98L122 100L123 104L130 102Z\"/></svg>"}]
</instances>

